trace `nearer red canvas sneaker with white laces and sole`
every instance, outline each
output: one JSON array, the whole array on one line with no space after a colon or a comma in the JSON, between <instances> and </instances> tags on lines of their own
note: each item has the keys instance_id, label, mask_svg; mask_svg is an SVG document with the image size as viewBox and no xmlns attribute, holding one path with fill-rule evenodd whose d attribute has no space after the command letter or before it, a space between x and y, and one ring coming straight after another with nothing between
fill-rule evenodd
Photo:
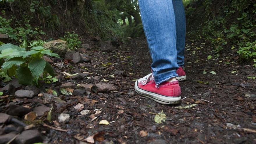
<instances>
[{"instance_id":1,"label":"nearer red canvas sneaker with white laces and sole","mask_svg":"<svg viewBox=\"0 0 256 144\"><path fill-rule=\"evenodd\" d=\"M139 95L153 99L161 104L178 104L181 102L179 82L163 82L156 86L152 73L138 79L134 88Z\"/></svg>"}]
</instances>

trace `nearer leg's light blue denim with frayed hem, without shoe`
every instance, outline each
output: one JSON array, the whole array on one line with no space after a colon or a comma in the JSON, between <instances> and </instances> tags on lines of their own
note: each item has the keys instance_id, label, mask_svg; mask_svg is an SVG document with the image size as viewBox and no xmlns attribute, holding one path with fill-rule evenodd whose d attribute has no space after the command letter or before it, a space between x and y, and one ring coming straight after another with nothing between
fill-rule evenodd
<instances>
[{"instance_id":1,"label":"nearer leg's light blue denim with frayed hem, without shoe","mask_svg":"<svg viewBox=\"0 0 256 144\"><path fill-rule=\"evenodd\" d=\"M177 77L176 25L172 0L139 0L141 19L158 85Z\"/></svg>"}]
</instances>

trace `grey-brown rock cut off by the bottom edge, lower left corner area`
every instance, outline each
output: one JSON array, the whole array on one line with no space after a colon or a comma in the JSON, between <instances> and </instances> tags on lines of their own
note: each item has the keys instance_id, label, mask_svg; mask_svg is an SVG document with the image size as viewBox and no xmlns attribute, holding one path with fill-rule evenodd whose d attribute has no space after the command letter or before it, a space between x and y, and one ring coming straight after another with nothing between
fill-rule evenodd
<instances>
[{"instance_id":1,"label":"grey-brown rock cut off by the bottom edge, lower left corner area","mask_svg":"<svg viewBox=\"0 0 256 144\"><path fill-rule=\"evenodd\" d=\"M41 134L38 130L26 130L23 131L17 138L15 139L18 144L30 144L30 143L40 143L43 141Z\"/></svg>"}]
</instances>

